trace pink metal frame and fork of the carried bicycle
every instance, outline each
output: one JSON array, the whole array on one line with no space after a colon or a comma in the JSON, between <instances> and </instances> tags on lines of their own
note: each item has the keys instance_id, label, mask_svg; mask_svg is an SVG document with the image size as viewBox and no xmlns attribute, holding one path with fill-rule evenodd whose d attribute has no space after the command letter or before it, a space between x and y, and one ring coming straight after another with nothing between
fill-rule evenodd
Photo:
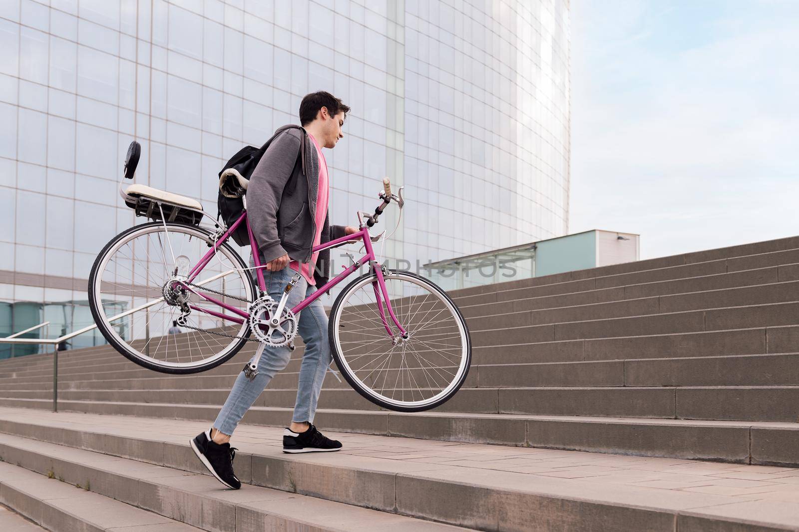
<instances>
[{"instance_id":1,"label":"pink metal frame and fork of the carried bicycle","mask_svg":"<svg viewBox=\"0 0 799 532\"><path fill-rule=\"evenodd\" d=\"M250 248L252 249L252 257L253 260L255 261L255 267L256 267L255 270L256 279L258 281L258 286L260 287L260 291L264 294L266 293L266 283L264 282L264 271L263 271L264 267L266 266L263 266L260 263L260 258L258 256L258 246L255 242L255 236L252 234L252 227L250 227L249 220L247 219L247 211L244 211L244 213L239 217L239 219L237 219L236 222L233 223L231 227L229 227L228 231L225 231L225 234L222 234L222 236L217 240L217 242L214 243L213 249L209 250L208 253L206 253L205 256L200 259L200 262L197 262L197 265L195 265L192 268L192 270L189 271L189 277L186 279L187 282L193 282L193 280L197 278L197 275L200 274L202 269L205 268L205 265L207 265L211 261L211 258L213 258L214 254L216 254L217 248L221 246L222 242L225 242L225 240L227 240L231 234L233 234L233 231L236 231L237 227L239 227L241 223L247 224L247 234L249 235ZM384 313L383 302L385 302L386 308L388 309L388 315L392 318L394 325L396 325L397 329L400 329L400 333L404 336L407 334L407 332L400 324L400 320L397 319L394 310L392 309L392 304L388 297L388 289L386 288L386 282L383 277L383 270L380 268L380 266L376 266L375 252L374 250L372 250L372 240L369 237L368 227L363 227L360 229L360 231L356 233L348 234L341 238L336 238L335 240L331 240L330 242L324 242L324 244L321 244L320 246L315 246L313 248L313 252L326 250L330 247L339 246L346 242L356 242L358 239L364 241L364 248L366 250L366 254L364 254L364 256L361 257L358 262L344 268L344 271L336 275L335 278L332 278L330 281L325 283L324 286L316 290L316 292L314 292L310 297L305 298L303 301L300 301L297 305L295 305L292 308L292 313L295 314L299 313L300 310L310 305L317 298L320 298L322 294L330 290L333 286L336 286L339 282L344 280L344 278L347 278L348 275L352 274L352 272L357 270L361 264L368 263L369 266L372 268L372 271L375 272L375 277L377 278L376 282L374 281L372 282L372 288L375 290L377 308L380 312L380 319L383 321L386 333L388 333L389 337L394 336L391 325L388 324L388 318ZM193 290L189 286L186 286L185 288L192 290L195 294L201 296L201 298L204 298L207 301L211 301L212 303L221 306L222 308L228 310L229 312L235 315L232 316L230 314L223 314L215 312L213 310L203 309L202 307L197 305L189 305L190 309L194 309L197 310L197 312L206 313L211 316L219 317L224 320L233 321L238 324L243 324L244 321L247 320L249 317L249 314L247 312L244 312L243 310L238 309L237 307L219 301L216 298L212 298L211 296L209 296L209 294L203 294L199 291ZM381 294L382 294L382 299L381 299Z\"/></svg>"}]
</instances>

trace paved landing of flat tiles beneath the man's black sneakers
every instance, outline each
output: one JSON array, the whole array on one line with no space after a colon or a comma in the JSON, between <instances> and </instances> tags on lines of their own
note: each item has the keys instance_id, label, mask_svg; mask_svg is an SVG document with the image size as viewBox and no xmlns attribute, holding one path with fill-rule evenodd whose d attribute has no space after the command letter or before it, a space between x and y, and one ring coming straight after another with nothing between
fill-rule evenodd
<instances>
[{"instance_id":1,"label":"paved landing of flat tiles beneath the man's black sneakers","mask_svg":"<svg viewBox=\"0 0 799 532\"><path fill-rule=\"evenodd\" d=\"M134 416L103 416L78 412L26 411L0 408L0 418L50 427L73 428L154 440L187 441L207 427L205 422ZM530 475L531 484L544 478L575 479L580 483L646 488L653 497L662 491L727 495L741 500L781 501L796 505L799 516L799 468L751 466L739 463L606 455L531 447L505 447L427 439L328 432L340 439L337 455L369 456L403 463L439 464L443 468L476 468ZM232 443L245 452L272 454L282 448L283 428L241 424ZM281 453L282 454L282 453ZM342 460L352 463L351 459ZM387 463L388 465L388 463ZM410 465L410 464L407 464ZM390 467L394 469L394 467ZM538 482L533 482L537 480Z\"/></svg>"}]
</instances>

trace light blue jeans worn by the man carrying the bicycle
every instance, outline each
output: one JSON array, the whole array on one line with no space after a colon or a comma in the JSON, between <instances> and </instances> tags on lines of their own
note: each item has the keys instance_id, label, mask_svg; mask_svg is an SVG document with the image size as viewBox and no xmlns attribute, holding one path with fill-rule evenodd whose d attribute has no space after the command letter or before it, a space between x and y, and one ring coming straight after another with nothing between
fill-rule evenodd
<instances>
[{"instance_id":1,"label":"light blue jeans worn by the man carrying the bicycle","mask_svg":"<svg viewBox=\"0 0 799 532\"><path fill-rule=\"evenodd\" d=\"M264 264L263 255L260 259L261 264ZM250 267L255 266L252 255L250 255L249 265ZM296 271L288 266L280 271L272 272L265 269L263 271L266 290L275 301L280 301L285 286L288 285ZM250 270L250 274L256 278L255 270ZM316 292L316 286L309 286L305 278L300 277L300 282L288 293L286 307L292 308L314 292ZM300 366L300 380L297 385L297 398L292 421L312 423L316 413L316 403L322 391L324 375L332 360L328 341L328 315L324 312L321 298L302 309L297 318L297 334L304 341L305 351ZM258 374L253 380L249 380L244 376L244 372L239 372L225 405L219 412L217 420L213 422L213 427L222 434L232 435L239 421L244 417L244 413L260 396L260 392L264 391L272 377L288 365L290 358L291 350L288 349L288 346L266 346L264 353L260 356L260 361L258 361ZM250 361L254 359L255 355Z\"/></svg>"}]
</instances>

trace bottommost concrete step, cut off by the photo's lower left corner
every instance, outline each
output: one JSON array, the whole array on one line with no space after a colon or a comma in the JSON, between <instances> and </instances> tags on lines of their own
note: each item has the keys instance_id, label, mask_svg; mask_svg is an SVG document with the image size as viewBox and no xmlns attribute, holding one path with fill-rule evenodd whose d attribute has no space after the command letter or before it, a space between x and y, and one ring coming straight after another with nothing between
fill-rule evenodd
<instances>
[{"instance_id":1,"label":"bottommost concrete step, cut off by the photo's lower left corner","mask_svg":"<svg viewBox=\"0 0 799 532\"><path fill-rule=\"evenodd\" d=\"M106 462L109 460L107 456L101 458ZM24 515L38 526L26 522L24 527L3 527L2 530L9 532L42 530L40 526L54 532L75 532L76 530L85 532L122 532L122 530L199 532L208 530L165 518L134 505L88 491L87 488L90 486L83 477L68 481L64 478L64 473L59 471L56 474L52 469L42 471L40 475L25 467L7 463L10 461L7 455L4 455L3 459L5 461L0 462L0 502L18 514ZM42 463L48 463L47 457L43 457ZM64 480L60 481L59 477ZM96 490L97 487L94 489ZM0 520L0 524L2 523Z\"/></svg>"}]
</instances>

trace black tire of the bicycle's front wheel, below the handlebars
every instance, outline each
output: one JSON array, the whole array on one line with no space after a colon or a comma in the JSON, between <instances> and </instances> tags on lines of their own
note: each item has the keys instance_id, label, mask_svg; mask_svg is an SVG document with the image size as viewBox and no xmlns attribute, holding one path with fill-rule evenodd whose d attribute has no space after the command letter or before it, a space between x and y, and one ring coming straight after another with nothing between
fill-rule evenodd
<instances>
[{"instance_id":1,"label":"black tire of the bicycle's front wheel, below the handlebars","mask_svg":"<svg viewBox=\"0 0 799 532\"><path fill-rule=\"evenodd\" d=\"M392 272L389 272L392 273ZM363 388L361 388L360 384L356 380L353 379L352 375L345 369L347 366L341 363L342 355L339 353L338 346L336 345L336 335L334 334L335 331L334 326L336 324L336 314L340 311L340 305L344 301L344 294L347 294L348 290L352 288L352 286L356 285L356 283L362 281L364 278L371 278L374 277L375 274L370 272L368 274L361 275L360 277L353 279L352 282L349 282L347 286L344 286L344 290L341 290L338 297L336 297L336 301L333 302L333 306L330 309L330 318L328 320L328 341L330 342L330 351L333 356L333 360L336 361L336 366L339 368L339 372L342 376L344 376L344 380L352 386L356 392L360 394L360 396L364 397L364 399L368 400L372 404L376 404L381 408L386 408L387 410L392 410L393 412L424 412L427 410L431 410L432 408L436 408L441 406L442 404L446 403L448 400L452 398L463 386L463 383L466 382L466 378L469 375L469 369L471 368L471 334L469 333L469 325L467 324L466 318L463 317L463 314L460 313L460 309L458 305L455 305L455 301L452 301L452 298L449 297L449 294L445 292L440 286L436 285L435 282L432 282L430 279L425 278L419 274L414 274L409 271L397 271L393 272L397 274L406 274L413 278L419 279L419 281L424 282L428 286L431 286L434 290L436 290L439 294L443 295L444 298L452 305L452 308L455 309L456 317L463 323L463 329L466 333L466 342L467 342L467 349L466 349L466 371L463 372L463 376L460 377L458 384L455 388L447 393L447 395L440 397L438 400L435 400L433 403L429 405L423 405L419 407L400 407L396 404L387 403L384 400L380 400L368 392L366 392Z\"/></svg>"}]
</instances>

